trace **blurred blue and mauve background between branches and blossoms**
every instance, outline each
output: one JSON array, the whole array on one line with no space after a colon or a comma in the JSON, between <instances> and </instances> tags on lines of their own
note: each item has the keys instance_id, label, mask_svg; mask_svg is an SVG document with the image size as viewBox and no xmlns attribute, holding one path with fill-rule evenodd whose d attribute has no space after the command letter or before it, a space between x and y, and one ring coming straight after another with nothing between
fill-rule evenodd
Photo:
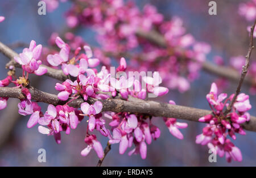
<instances>
[{"instance_id":1,"label":"blurred blue and mauve background between branches and blossoms","mask_svg":"<svg viewBox=\"0 0 256 178\"><path fill-rule=\"evenodd\" d=\"M205 41L212 46L207 60L212 61L213 56L219 55L224 59L232 56L245 56L248 49L249 37L246 27L250 24L238 14L238 5L241 2L235 0L216 0L217 15L208 14L209 1L197 0L139 0L135 1L139 7L146 3L155 5L165 18L174 15L183 19L184 26L196 40ZM38 1L34 0L0 0L0 15L6 20L0 24L0 41L12 46L16 52L22 48L16 48L17 42L29 44L35 40L38 44L48 45L48 39L53 32L61 33L67 29L64 14L71 7L70 2L60 3L59 7L47 15L38 15ZM76 35L81 36L87 43L97 46L94 32L90 29L78 29ZM255 60L255 52L252 60ZM5 65L8 59L0 54L0 76L6 76ZM115 66L116 62L113 62ZM20 71L20 69L18 69ZM201 71L200 78L191 84L191 90L181 94L176 90L169 92L168 96L159 100L176 101L176 104L190 107L209 109L205 95L208 94L210 83L216 76ZM32 78L32 86L42 91L57 94L55 91L55 79L48 77ZM232 94L236 83L230 83L225 92ZM243 91L248 94L248 88L243 86ZM250 114L256 116L254 109L256 96L250 95L253 108ZM18 100L9 99L7 108L0 111L0 166L96 166L98 162L94 151L86 157L80 155L80 151L86 147L84 137L86 134L86 121L83 120L76 130L70 135L62 134L60 145L55 143L53 137L40 134L37 127L26 127L28 117L18 114ZM45 111L46 105L42 104ZM196 135L201 133L204 124L189 122L188 128L181 130L184 134L182 141L173 137L162 119L152 120L161 130L161 136L147 147L147 158L142 160L139 155L128 156L118 154L118 145L113 145L112 150L106 156L102 166L256 166L256 133L246 132L246 136L237 135L234 144L241 149L243 161L241 163L227 163L225 158L217 157L217 163L209 163L207 146L195 143ZM102 146L107 139L98 137ZM38 162L38 150L46 150L46 163Z\"/></svg>"}]
</instances>

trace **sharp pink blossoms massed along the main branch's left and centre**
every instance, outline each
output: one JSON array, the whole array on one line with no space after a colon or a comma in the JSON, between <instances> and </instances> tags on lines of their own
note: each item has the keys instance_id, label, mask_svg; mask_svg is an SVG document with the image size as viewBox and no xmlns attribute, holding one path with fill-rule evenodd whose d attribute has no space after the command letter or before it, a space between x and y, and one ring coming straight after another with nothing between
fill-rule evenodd
<instances>
[{"instance_id":1,"label":"sharp pink blossoms massed along the main branch's left and centre","mask_svg":"<svg viewBox=\"0 0 256 178\"><path fill-rule=\"evenodd\" d=\"M124 154L128 148L134 145L128 154L141 154L142 159L145 159L147 145L151 144L152 139L160 137L159 128L151 123L152 117L127 112L105 112L102 114L104 106L101 101L94 101L92 104L89 102L91 101L89 98L105 100L121 97L124 100L129 100L130 97L146 99L147 93L155 96L166 95L168 88L159 86L162 83L159 73L154 72L152 77L142 77L142 82L135 76L126 79L119 74L129 73L127 71L129 66L127 66L125 58L121 58L119 66L115 69L115 73L118 73L117 78L114 78L106 66L102 66L98 71L96 67L100 64L100 60L92 58L93 54L89 46L84 45L85 53L82 53L80 46L71 51L72 47L60 37L56 37L55 43L60 48L60 52L48 54L47 62L55 69L61 66L63 73L71 75L72 79L55 85L55 89L59 91L57 97L64 102L63 105L49 104L47 111L43 113L38 102L32 101L29 74L43 75L47 71L42 70L44 69L43 66L40 66L42 62L38 60L42 52L42 45L36 45L35 41L31 41L30 47L25 48L19 57L15 57L15 61L22 65L22 77L13 81L12 77L8 76L0 81L1 87L9 86L11 82L14 83L16 88L21 88L22 93L26 96L26 99L20 100L18 108L20 115L30 115L27 127L32 128L39 124L38 131L40 133L53 135L55 141L60 144L61 132L69 134L71 129L76 129L79 122L86 116L88 117L88 126L85 143L88 146L81 151L82 156L88 155L92 149L96 151L99 158L104 156L101 143L92 133L96 130L104 137L108 137L110 144L119 143L120 154ZM13 66L10 66L10 71L12 69ZM143 88L143 85L146 87ZM80 108L69 106L73 100L80 98L84 100ZM0 109L6 107L6 102L7 98L0 99ZM170 103L175 104L174 101L170 101ZM106 118L111 120L109 123L111 129L105 125ZM175 137L183 139L183 135L178 129L186 128L187 124L176 122L175 118L164 118L164 122Z\"/></svg>"}]
</instances>

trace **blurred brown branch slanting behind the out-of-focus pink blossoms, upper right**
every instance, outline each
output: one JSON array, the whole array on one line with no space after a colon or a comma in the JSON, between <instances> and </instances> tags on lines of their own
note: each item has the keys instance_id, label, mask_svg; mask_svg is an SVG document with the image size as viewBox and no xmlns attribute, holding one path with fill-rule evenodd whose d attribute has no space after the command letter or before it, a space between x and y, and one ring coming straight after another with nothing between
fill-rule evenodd
<instances>
[{"instance_id":1,"label":"blurred brown branch slanting behind the out-of-focus pink blossoms, upper right","mask_svg":"<svg viewBox=\"0 0 256 178\"><path fill-rule=\"evenodd\" d=\"M154 43L163 48L167 47L166 40L157 31L145 32L145 31L142 31L141 29L139 29L137 31L137 36L143 37L144 39L151 41L151 43ZM205 61L202 65L202 67L205 71L207 71L211 74L214 74L214 75L218 75L219 77L224 77L224 78L236 81L236 82L240 80L240 73L238 73L236 70L234 70L230 67L217 66L214 63L211 63L208 61ZM250 77L245 78L245 83L249 84L249 85L255 84L253 82L253 79L251 79Z\"/></svg>"}]
</instances>

